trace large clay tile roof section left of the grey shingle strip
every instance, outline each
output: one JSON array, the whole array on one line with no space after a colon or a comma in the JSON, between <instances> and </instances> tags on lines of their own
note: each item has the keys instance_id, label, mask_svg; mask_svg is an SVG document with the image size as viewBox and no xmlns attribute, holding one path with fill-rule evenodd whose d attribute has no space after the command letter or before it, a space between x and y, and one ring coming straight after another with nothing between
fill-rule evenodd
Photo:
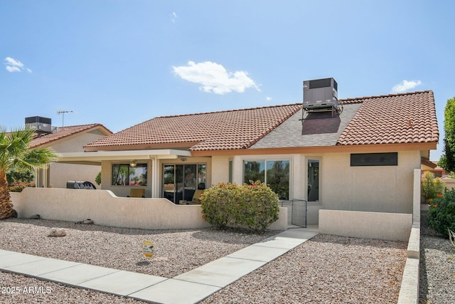
<instances>
[{"instance_id":1,"label":"large clay tile roof section left of the grey shingle strip","mask_svg":"<svg viewBox=\"0 0 455 304\"><path fill-rule=\"evenodd\" d=\"M85 145L87 150L151 149L172 144L192 151L247 149L301 104L156 117Z\"/></svg>"}]
</instances>

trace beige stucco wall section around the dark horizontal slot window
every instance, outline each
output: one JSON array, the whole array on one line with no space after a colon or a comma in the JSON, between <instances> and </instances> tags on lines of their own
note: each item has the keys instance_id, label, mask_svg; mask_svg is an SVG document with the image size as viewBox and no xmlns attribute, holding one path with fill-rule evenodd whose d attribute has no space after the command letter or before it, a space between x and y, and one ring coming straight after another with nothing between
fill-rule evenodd
<instances>
[{"instance_id":1,"label":"beige stucco wall section around the dark horizontal slot window","mask_svg":"<svg viewBox=\"0 0 455 304\"><path fill-rule=\"evenodd\" d=\"M398 165L350 167L349 153L323 155L323 209L412 213L419 151L398 152Z\"/></svg>"}]
</instances>

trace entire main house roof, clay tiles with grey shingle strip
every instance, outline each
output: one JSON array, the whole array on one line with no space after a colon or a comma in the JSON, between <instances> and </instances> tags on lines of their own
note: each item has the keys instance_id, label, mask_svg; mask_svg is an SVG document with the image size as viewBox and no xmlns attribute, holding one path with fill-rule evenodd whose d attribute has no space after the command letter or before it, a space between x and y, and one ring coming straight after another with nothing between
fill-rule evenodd
<instances>
[{"instance_id":1,"label":"entire main house roof, clay tiles with grey shingle strip","mask_svg":"<svg viewBox=\"0 0 455 304\"><path fill-rule=\"evenodd\" d=\"M86 151L190 151L438 142L432 91L340 100L341 115L301 103L156 117L85 145ZM304 118L304 120L302 120ZM273 132L272 132L273 131Z\"/></svg>"}]
</instances>

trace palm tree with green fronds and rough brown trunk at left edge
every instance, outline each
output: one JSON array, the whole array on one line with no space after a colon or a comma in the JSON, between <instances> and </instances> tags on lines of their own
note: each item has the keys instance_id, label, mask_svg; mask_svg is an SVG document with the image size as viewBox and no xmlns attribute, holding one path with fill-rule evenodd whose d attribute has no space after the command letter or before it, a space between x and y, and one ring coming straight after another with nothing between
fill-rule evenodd
<instances>
[{"instance_id":1,"label":"palm tree with green fronds and rough brown trunk at left edge","mask_svg":"<svg viewBox=\"0 0 455 304\"><path fill-rule=\"evenodd\" d=\"M42 168L57 157L48 148L29 147L34 132L33 129L19 128L8 134L4 127L0 127L0 219L8 219L15 212L9 196L6 171Z\"/></svg>"}]
</instances>

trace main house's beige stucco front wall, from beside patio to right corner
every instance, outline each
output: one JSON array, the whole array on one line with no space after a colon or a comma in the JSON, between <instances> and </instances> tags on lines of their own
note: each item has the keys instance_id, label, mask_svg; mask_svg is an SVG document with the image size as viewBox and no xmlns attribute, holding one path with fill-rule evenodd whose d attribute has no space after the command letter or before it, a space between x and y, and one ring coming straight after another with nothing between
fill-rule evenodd
<instances>
[{"instance_id":1,"label":"main house's beige stucco front wall, from beside patio to right corner","mask_svg":"<svg viewBox=\"0 0 455 304\"><path fill-rule=\"evenodd\" d=\"M350 153L273 154L213 157L213 182L228 182L232 159L232 181L242 184L243 161L289 159L290 198L307 199L307 160L319 159L319 201L309 201L307 223L318 224L320 209L412 213L413 170L420 168L419 151L398 152L397 166L350 167Z\"/></svg>"}]
</instances>

